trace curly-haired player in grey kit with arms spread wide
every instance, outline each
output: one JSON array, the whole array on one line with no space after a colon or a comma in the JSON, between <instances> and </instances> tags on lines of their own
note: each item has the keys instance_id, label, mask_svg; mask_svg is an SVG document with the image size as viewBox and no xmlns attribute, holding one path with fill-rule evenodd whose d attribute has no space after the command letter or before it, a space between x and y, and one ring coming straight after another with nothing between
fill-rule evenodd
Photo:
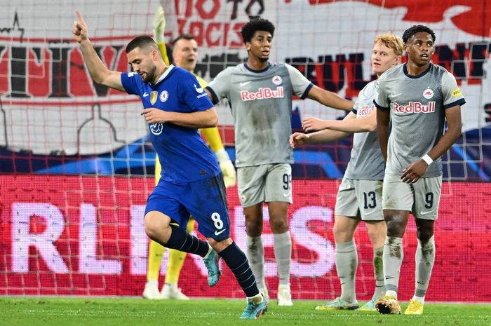
<instances>
[{"instance_id":1,"label":"curly-haired player in grey kit with arms spread wide","mask_svg":"<svg viewBox=\"0 0 491 326\"><path fill-rule=\"evenodd\" d=\"M247 257L260 290L267 295L262 245L262 206L268 203L278 264L278 305L291 306L292 95L351 110L353 102L314 86L289 64L269 62L274 25L255 19L242 31L248 60L218 74L206 91L213 103L227 97L234 116L238 194L244 208Z\"/></svg>"}]
</instances>

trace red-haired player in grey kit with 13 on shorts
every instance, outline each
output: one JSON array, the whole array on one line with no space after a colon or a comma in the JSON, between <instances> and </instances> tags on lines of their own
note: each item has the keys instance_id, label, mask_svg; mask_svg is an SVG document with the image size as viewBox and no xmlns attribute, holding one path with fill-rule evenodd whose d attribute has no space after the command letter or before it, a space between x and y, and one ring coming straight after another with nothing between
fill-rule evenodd
<instances>
[{"instance_id":1,"label":"red-haired player in grey kit with 13 on shorts","mask_svg":"<svg viewBox=\"0 0 491 326\"><path fill-rule=\"evenodd\" d=\"M375 37L373 43L370 62L372 71L379 77L387 69L401 63L403 40L395 34L382 34ZM305 131L321 131L309 134L294 133L290 136L290 144L296 147L314 142L333 142L355 133L351 159L337 191L333 228L341 296L323 306L316 306L316 310L358 308L355 292L358 254L354 233L362 220L373 247L375 292L372 299L358 310L375 311L375 301L383 296L382 252L386 224L382 212L382 180L385 164L377 141L377 109L373 104L373 99L377 97L376 82L371 81L360 91L353 111L342 121L304 118L302 125Z\"/></svg>"}]
</instances>

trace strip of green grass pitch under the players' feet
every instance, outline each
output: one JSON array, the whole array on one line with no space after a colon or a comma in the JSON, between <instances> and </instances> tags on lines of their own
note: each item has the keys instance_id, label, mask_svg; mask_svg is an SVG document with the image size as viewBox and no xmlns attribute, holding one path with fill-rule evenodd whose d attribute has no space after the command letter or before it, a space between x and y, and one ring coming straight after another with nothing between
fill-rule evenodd
<instances>
[{"instance_id":1,"label":"strip of green grass pitch under the players' feet","mask_svg":"<svg viewBox=\"0 0 491 326\"><path fill-rule=\"evenodd\" d=\"M272 300L268 313L260 320L240 320L245 299L149 301L116 297L0 297L0 325L491 325L491 306L486 304L426 304L424 315L417 316L315 311L314 307L322 303L294 301L292 307L280 307ZM402 304L403 311L406 306Z\"/></svg>"}]
</instances>

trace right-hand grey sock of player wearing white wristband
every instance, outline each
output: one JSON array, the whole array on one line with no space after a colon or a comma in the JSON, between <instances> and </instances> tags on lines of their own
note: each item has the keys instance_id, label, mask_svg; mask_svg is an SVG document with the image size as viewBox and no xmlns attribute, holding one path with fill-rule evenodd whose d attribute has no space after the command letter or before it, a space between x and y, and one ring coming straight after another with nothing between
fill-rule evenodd
<instances>
[{"instance_id":1,"label":"right-hand grey sock of player wearing white wristband","mask_svg":"<svg viewBox=\"0 0 491 326\"><path fill-rule=\"evenodd\" d=\"M415 296L424 297L428 290L431 270L435 263L435 238L432 236L428 241L422 242L417 239L416 249L416 287Z\"/></svg>"}]
</instances>

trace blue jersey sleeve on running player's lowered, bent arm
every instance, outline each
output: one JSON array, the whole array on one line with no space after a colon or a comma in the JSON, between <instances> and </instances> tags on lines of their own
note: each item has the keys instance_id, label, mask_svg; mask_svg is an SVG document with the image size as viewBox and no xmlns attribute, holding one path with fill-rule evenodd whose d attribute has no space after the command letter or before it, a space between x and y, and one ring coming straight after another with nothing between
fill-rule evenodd
<instances>
[{"instance_id":1,"label":"blue jersey sleeve on running player's lowered, bent arm","mask_svg":"<svg viewBox=\"0 0 491 326\"><path fill-rule=\"evenodd\" d=\"M186 103L191 111L206 111L213 107L208 94L192 74L182 76L179 88L182 102Z\"/></svg>"}]
</instances>

